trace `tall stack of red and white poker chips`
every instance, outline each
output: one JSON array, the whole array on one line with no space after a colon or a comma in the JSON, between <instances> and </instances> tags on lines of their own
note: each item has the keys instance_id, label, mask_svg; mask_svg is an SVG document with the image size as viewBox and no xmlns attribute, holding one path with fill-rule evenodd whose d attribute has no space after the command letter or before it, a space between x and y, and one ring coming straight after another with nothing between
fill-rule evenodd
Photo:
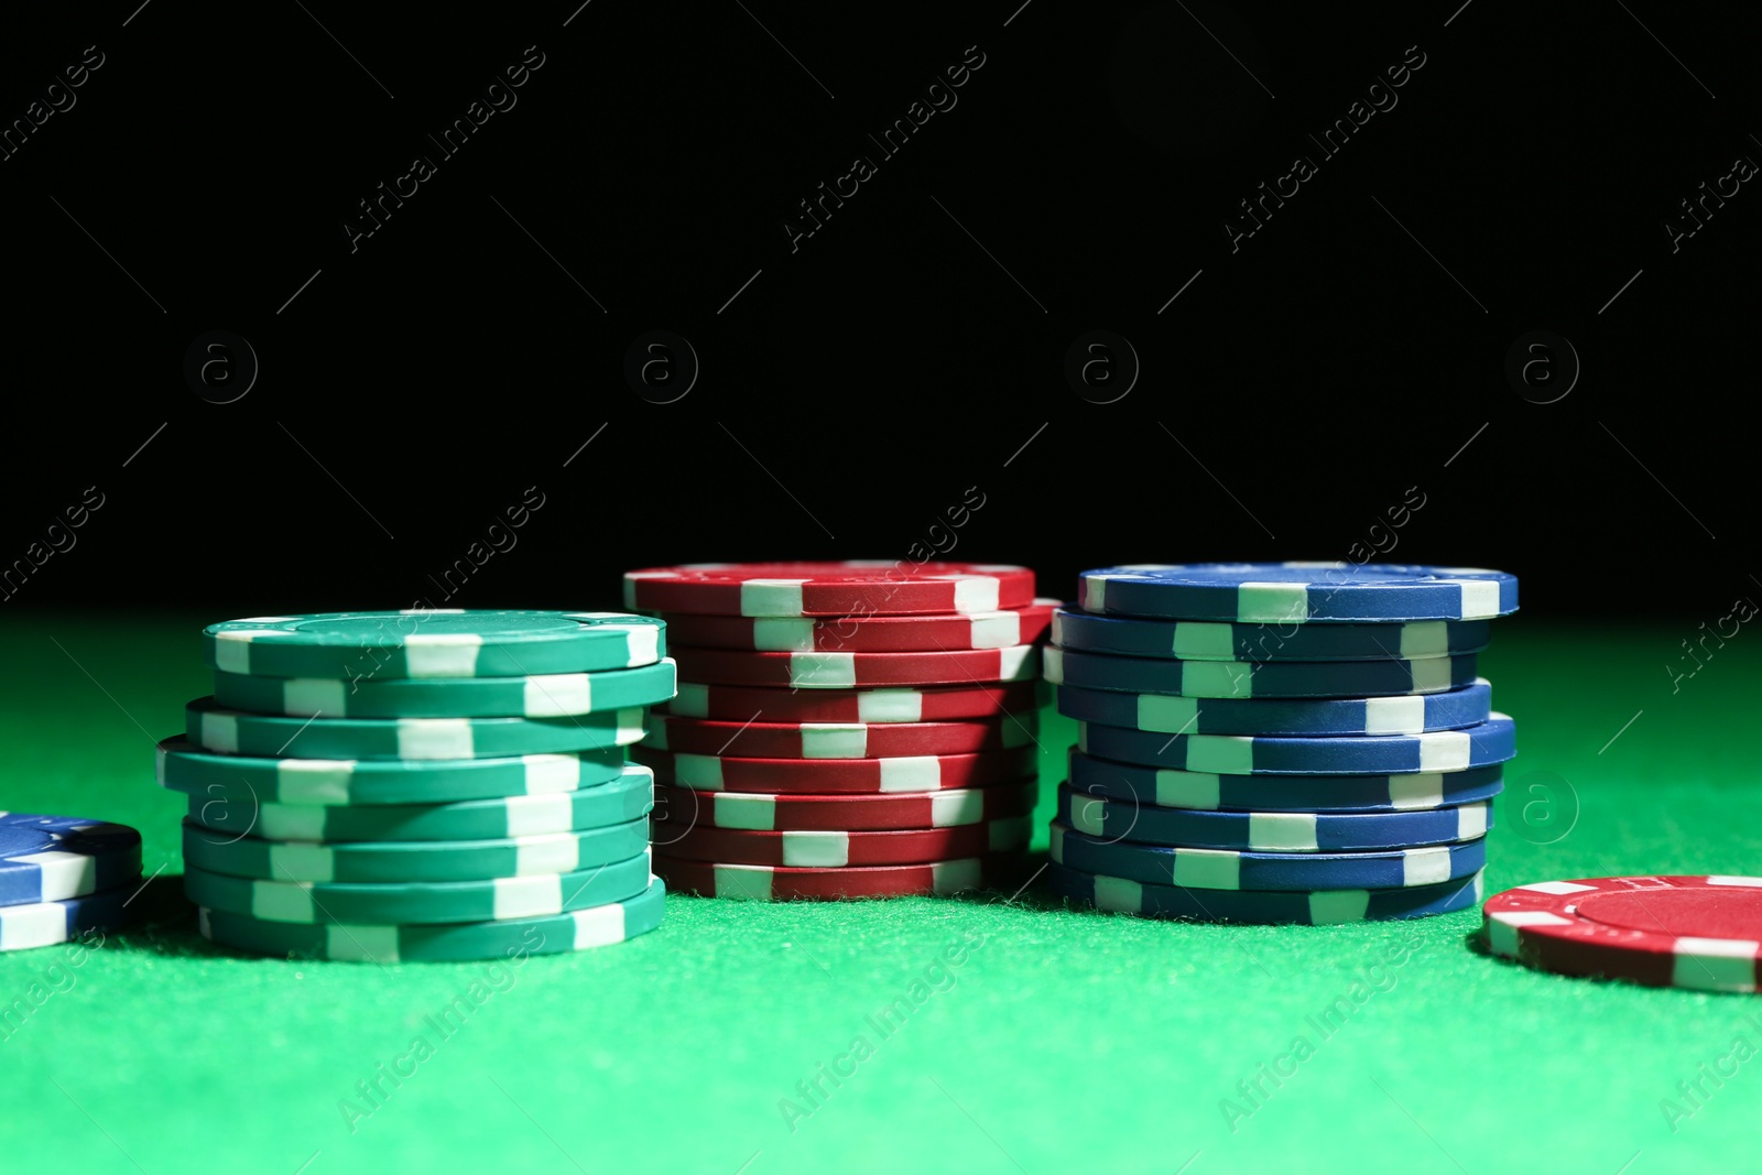
<instances>
[{"instance_id":1,"label":"tall stack of red and white poker chips","mask_svg":"<svg viewBox=\"0 0 1762 1175\"><path fill-rule=\"evenodd\" d=\"M1020 872L1040 641L1057 601L985 564L633 571L680 687L655 770L655 872L733 898L953 893Z\"/></svg>"}]
</instances>

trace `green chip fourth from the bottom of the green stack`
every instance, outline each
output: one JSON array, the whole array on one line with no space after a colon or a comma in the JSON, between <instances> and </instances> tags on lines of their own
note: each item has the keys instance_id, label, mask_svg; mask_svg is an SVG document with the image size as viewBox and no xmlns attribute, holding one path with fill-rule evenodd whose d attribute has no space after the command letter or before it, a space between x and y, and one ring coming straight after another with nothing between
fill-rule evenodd
<instances>
[{"instance_id":1,"label":"green chip fourth from the bottom of the green stack","mask_svg":"<svg viewBox=\"0 0 1762 1175\"><path fill-rule=\"evenodd\" d=\"M474 759L481 763L481 759ZM254 803L192 794L190 819L215 833L264 840L499 840L610 828L654 807L654 772L626 763L624 775L548 796L502 796L456 803L321 807Z\"/></svg>"}]
</instances>

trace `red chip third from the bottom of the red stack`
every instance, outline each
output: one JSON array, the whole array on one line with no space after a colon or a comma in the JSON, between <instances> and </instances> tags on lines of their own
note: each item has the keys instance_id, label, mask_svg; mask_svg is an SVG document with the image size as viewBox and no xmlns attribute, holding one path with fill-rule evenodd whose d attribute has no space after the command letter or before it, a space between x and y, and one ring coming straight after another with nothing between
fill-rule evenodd
<instances>
[{"instance_id":1,"label":"red chip third from the bottom of the red stack","mask_svg":"<svg viewBox=\"0 0 1762 1175\"><path fill-rule=\"evenodd\" d=\"M1040 798L1034 779L990 787L950 787L899 796L766 796L751 791L655 787L655 842L668 824L747 828L756 831L890 831L895 828L959 828L1008 816L1027 816Z\"/></svg>"}]
</instances>

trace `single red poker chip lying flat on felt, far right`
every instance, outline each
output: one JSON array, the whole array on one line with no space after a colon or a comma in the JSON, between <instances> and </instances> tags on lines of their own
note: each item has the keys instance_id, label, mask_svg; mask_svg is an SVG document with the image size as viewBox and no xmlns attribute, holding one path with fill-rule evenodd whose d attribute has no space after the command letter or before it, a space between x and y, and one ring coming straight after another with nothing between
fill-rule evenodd
<instances>
[{"instance_id":1,"label":"single red poker chip lying flat on felt, far right","mask_svg":"<svg viewBox=\"0 0 1762 1175\"><path fill-rule=\"evenodd\" d=\"M1489 898L1482 935L1494 955L1556 974L1755 992L1762 877L1542 881Z\"/></svg>"}]
</instances>

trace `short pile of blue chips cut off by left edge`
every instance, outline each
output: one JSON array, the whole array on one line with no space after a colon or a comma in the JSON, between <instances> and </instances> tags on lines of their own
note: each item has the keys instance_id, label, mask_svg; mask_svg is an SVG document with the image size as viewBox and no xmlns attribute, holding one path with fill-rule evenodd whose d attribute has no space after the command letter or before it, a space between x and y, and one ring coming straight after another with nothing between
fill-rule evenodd
<instances>
[{"instance_id":1,"label":"short pile of blue chips cut off by left edge","mask_svg":"<svg viewBox=\"0 0 1762 1175\"><path fill-rule=\"evenodd\" d=\"M141 884L134 828L0 812L0 951L99 942L129 921Z\"/></svg>"}]
</instances>

